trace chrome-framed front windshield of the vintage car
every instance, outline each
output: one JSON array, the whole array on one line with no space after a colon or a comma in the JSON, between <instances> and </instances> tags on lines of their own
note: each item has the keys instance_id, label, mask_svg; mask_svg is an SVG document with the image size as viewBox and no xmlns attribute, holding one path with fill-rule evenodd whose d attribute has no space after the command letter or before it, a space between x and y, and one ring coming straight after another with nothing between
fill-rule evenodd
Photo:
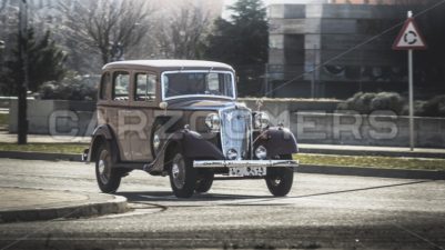
<instances>
[{"instance_id":1,"label":"chrome-framed front windshield of the vintage car","mask_svg":"<svg viewBox=\"0 0 445 250\"><path fill-rule=\"evenodd\" d=\"M170 71L162 74L163 99L186 97L235 98L234 77L226 71Z\"/></svg>"}]
</instances>

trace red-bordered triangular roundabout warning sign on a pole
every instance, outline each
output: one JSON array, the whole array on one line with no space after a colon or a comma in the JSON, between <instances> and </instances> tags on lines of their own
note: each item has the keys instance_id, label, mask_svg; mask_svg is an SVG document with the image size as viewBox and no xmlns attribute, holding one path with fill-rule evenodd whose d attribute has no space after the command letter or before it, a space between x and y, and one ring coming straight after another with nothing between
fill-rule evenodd
<instances>
[{"instance_id":1,"label":"red-bordered triangular roundabout warning sign on a pole","mask_svg":"<svg viewBox=\"0 0 445 250\"><path fill-rule=\"evenodd\" d=\"M414 18L405 21L401 32L393 44L393 50L425 50L426 42L417 28Z\"/></svg>"}]
</instances>

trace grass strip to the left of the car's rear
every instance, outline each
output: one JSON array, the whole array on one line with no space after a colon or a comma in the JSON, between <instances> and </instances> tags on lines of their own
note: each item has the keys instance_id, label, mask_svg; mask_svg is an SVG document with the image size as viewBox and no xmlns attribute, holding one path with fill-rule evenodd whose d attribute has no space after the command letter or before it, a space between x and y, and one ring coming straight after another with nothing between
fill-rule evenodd
<instances>
[{"instance_id":1,"label":"grass strip to the left of the car's rear","mask_svg":"<svg viewBox=\"0 0 445 250\"><path fill-rule=\"evenodd\" d=\"M0 151L26 151L47 153L82 153L89 146L84 143L28 143L0 142Z\"/></svg>"}]
</instances>

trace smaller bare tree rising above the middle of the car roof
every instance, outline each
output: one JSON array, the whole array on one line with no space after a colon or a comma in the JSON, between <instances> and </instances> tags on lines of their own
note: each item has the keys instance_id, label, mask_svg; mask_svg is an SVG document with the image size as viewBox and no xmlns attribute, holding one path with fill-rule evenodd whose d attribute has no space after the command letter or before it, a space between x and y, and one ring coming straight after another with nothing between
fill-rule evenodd
<instances>
[{"instance_id":1,"label":"smaller bare tree rising above the middle of the car roof","mask_svg":"<svg viewBox=\"0 0 445 250\"><path fill-rule=\"evenodd\" d=\"M156 40L163 57L196 59L210 29L209 12L196 6L182 4L160 22Z\"/></svg>"}]
</instances>

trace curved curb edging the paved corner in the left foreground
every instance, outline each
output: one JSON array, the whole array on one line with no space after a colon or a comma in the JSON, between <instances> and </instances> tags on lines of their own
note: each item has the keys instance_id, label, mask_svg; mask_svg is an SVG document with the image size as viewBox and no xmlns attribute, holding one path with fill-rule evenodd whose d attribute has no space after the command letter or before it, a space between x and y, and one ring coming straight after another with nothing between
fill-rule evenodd
<instances>
[{"instance_id":1,"label":"curved curb edging the paved corner in the left foreground","mask_svg":"<svg viewBox=\"0 0 445 250\"><path fill-rule=\"evenodd\" d=\"M0 211L0 223L94 217L129 211L127 198L120 196L110 197L113 199L104 202Z\"/></svg>"}]
</instances>

